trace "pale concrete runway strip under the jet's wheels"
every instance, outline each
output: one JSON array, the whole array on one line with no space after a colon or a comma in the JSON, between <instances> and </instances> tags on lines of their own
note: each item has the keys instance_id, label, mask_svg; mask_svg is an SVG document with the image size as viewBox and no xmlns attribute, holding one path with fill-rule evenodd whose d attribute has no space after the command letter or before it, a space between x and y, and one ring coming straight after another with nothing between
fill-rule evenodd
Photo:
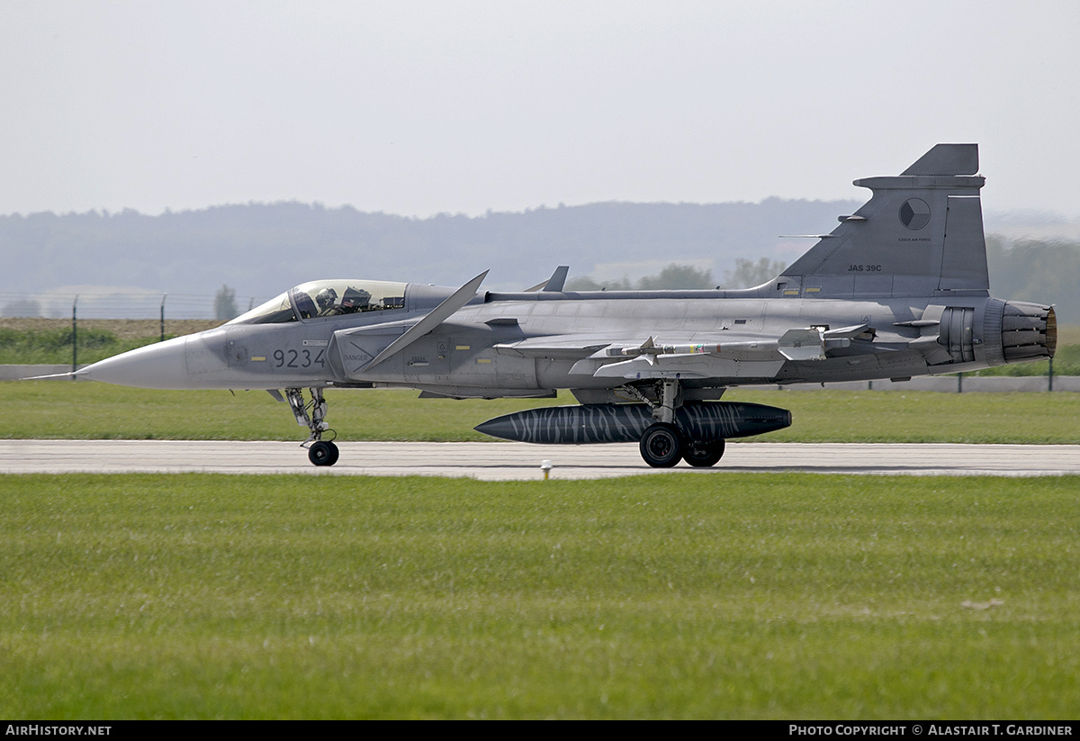
<instances>
[{"instance_id":1,"label":"pale concrete runway strip under the jet's wheels","mask_svg":"<svg viewBox=\"0 0 1080 741\"><path fill-rule=\"evenodd\" d=\"M349 443L315 468L296 443L204 441L0 441L3 473L299 473L464 476L484 481L606 479L662 472L799 471L883 475L1080 474L1080 445L729 443L712 469L652 469L636 444Z\"/></svg>"}]
</instances>

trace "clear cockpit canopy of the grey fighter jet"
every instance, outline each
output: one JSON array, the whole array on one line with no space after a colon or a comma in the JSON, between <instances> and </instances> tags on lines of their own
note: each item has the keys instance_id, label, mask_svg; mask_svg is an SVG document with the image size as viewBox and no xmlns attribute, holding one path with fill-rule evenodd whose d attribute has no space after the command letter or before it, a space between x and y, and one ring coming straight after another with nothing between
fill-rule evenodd
<instances>
[{"instance_id":1,"label":"clear cockpit canopy of the grey fighter jet","mask_svg":"<svg viewBox=\"0 0 1080 741\"><path fill-rule=\"evenodd\" d=\"M237 316L229 324L281 324L405 308L405 283L312 281Z\"/></svg>"}]
</instances>

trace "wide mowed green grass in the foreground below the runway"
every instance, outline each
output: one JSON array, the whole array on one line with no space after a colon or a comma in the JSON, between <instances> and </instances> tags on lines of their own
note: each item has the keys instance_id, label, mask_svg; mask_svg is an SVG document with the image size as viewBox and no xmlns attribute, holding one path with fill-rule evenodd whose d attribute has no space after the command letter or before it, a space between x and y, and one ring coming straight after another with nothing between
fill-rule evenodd
<instances>
[{"instance_id":1,"label":"wide mowed green grass in the foreground below the runway","mask_svg":"<svg viewBox=\"0 0 1080 741\"><path fill-rule=\"evenodd\" d=\"M1078 495L0 476L0 714L1075 718Z\"/></svg>"}]
</instances>

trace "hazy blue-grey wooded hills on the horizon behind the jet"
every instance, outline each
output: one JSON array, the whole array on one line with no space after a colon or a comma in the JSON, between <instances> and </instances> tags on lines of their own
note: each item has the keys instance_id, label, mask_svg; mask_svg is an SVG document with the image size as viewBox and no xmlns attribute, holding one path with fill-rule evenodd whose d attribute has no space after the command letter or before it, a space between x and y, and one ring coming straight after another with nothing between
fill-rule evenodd
<instances>
[{"instance_id":1,"label":"hazy blue-grey wooded hills on the horizon behind the jet","mask_svg":"<svg viewBox=\"0 0 1080 741\"><path fill-rule=\"evenodd\" d=\"M69 312L69 296L77 293L69 286L143 292L157 307L164 293L206 297L227 285L245 309L253 300L320 278L457 285L488 268L485 287L512 291L546 279L557 265L569 265L571 279L637 281L677 262L711 271L720 283L739 260L789 264L813 241L781 234L826 233L837 216L860 205L855 200L770 198L408 218L350 206L273 203L160 216L134 211L9 215L0 216L5 267L0 308L65 287L55 293ZM1004 234L989 239L994 294L1055 302L1063 322L1077 323L1080 243L1045 235L1067 239L1078 225L1052 223L1050 216L987 215L987 231L999 228ZM1043 239L1022 239L1025 234Z\"/></svg>"}]
</instances>

